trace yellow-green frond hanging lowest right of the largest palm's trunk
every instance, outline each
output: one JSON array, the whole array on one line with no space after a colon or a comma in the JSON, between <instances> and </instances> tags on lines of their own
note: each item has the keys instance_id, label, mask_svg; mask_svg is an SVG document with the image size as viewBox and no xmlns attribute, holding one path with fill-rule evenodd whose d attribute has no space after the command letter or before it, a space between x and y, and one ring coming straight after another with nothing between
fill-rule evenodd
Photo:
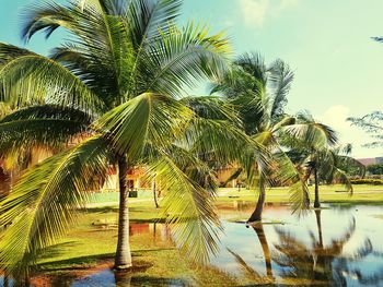
<instances>
[{"instance_id":1,"label":"yellow-green frond hanging lowest right of the largest palm's trunk","mask_svg":"<svg viewBox=\"0 0 383 287\"><path fill-rule=\"evenodd\" d=\"M212 194L188 177L172 159L162 156L150 166L149 174L161 180L166 194L163 213L172 224L177 244L187 256L207 263L218 251L220 222L212 204Z\"/></svg>"}]
</instances>

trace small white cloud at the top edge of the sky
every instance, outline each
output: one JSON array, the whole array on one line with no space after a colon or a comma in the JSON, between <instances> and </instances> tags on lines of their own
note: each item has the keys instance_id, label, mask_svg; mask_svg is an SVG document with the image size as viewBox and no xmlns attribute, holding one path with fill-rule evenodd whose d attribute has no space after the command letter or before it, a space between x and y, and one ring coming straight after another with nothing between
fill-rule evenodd
<instances>
[{"instance_id":1,"label":"small white cloud at the top edge of the sky","mask_svg":"<svg viewBox=\"0 0 383 287\"><path fill-rule=\"evenodd\" d=\"M281 11L295 5L299 0L239 0L244 22L259 27L268 16L278 16Z\"/></svg>"}]
</instances>

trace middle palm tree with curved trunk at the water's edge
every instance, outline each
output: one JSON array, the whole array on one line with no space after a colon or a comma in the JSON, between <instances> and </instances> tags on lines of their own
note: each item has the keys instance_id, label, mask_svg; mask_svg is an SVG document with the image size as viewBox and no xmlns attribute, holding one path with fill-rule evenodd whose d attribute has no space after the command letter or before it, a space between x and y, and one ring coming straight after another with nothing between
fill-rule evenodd
<instances>
[{"instance_id":1,"label":"middle palm tree with curved trunk at the water's edge","mask_svg":"<svg viewBox=\"0 0 383 287\"><path fill-rule=\"evenodd\" d=\"M306 184L285 153L281 140L292 135L312 144L322 144L325 131L318 124L295 124L295 119L286 115L285 106L292 81L293 72L283 61L276 60L266 65L259 55L245 53L212 87L211 93L223 94L237 108L246 134L266 146L274 158L274 166L266 170L254 164L255 174L263 172L253 179L247 172L249 186L257 184L259 190L257 205L248 222L262 220L267 184L289 183L293 211L309 205Z\"/></svg>"}]
</instances>

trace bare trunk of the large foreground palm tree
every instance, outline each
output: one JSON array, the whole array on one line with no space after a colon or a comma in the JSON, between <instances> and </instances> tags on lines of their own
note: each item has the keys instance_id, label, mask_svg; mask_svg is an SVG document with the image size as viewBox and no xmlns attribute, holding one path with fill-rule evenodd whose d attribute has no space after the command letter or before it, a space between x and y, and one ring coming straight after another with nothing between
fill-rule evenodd
<instances>
[{"instance_id":1,"label":"bare trunk of the large foreground palm tree","mask_svg":"<svg viewBox=\"0 0 383 287\"><path fill-rule=\"evenodd\" d=\"M118 211L118 241L115 258L116 270L127 270L131 267L131 254L129 242L129 208L128 208L128 187L127 177L128 164L123 156L118 160L119 178L119 211Z\"/></svg>"}]
</instances>

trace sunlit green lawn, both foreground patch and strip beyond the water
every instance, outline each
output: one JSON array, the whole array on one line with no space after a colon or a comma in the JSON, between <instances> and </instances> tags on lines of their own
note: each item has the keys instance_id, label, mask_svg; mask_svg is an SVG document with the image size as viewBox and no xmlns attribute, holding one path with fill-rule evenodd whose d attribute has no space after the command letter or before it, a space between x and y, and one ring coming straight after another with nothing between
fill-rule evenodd
<instances>
[{"instance_id":1,"label":"sunlit green lawn, both foreground patch and strip beyond the water","mask_svg":"<svg viewBox=\"0 0 383 287\"><path fill-rule=\"evenodd\" d=\"M353 196L337 192L341 190L341 186L321 187L322 202L383 203L383 187L356 186ZM311 192L313 192L312 188ZM106 266L113 265L117 242L117 200L114 199L118 198L112 193L98 196L89 205L86 212L81 212L81 216L76 225L69 228L67 236L44 252L39 261L39 274L56 276L105 263ZM107 204L104 204L102 199ZM288 202L288 199L286 188L267 191L267 202ZM220 189L218 192L218 204L236 200L255 201L256 194L246 189L240 192L237 189ZM150 196L130 200L130 219L131 223L143 225L161 222L159 210L155 210ZM137 266L134 276L141 278L139 280L143 285L150 284L153 279L158 283L166 283L175 278L194 278L201 286L232 286L237 283L237 278L219 270L193 264L183 256L173 242L160 238L161 232L156 236L150 232L131 236L134 263Z\"/></svg>"}]
</instances>

